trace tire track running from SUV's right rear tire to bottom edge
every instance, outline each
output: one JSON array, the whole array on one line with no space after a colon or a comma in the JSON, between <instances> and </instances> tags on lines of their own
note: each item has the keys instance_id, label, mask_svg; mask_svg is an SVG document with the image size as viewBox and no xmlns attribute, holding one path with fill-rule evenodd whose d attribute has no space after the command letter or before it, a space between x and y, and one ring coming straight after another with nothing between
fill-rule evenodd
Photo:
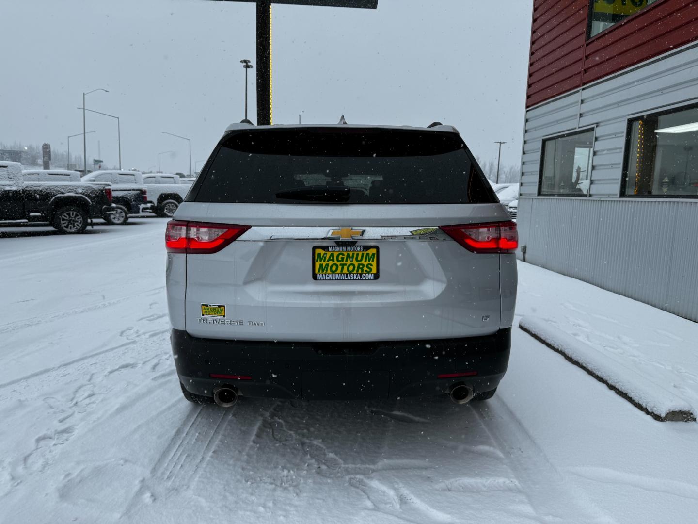
<instances>
[{"instance_id":1,"label":"tire track running from SUV's right rear tire to bottom edge","mask_svg":"<svg viewBox=\"0 0 698 524\"><path fill-rule=\"evenodd\" d=\"M470 407L503 453L521 493L538 516L545 521L565 523L616 522L597 509L585 493L574 490L565 481L503 400L495 397Z\"/></svg>"}]
</instances>

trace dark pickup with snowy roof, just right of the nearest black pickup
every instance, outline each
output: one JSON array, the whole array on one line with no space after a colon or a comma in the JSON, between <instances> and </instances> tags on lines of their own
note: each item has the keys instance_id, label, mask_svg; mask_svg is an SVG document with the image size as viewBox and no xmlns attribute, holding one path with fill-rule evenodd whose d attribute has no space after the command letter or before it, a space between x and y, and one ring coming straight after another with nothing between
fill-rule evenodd
<instances>
[{"instance_id":1,"label":"dark pickup with snowy roof, just right of the nearest black pickup","mask_svg":"<svg viewBox=\"0 0 698 524\"><path fill-rule=\"evenodd\" d=\"M152 212L148 189L143 185L140 171L94 171L82 177L82 182L112 187L115 210L109 217L104 217L109 224L126 224L129 214Z\"/></svg>"}]
</instances>

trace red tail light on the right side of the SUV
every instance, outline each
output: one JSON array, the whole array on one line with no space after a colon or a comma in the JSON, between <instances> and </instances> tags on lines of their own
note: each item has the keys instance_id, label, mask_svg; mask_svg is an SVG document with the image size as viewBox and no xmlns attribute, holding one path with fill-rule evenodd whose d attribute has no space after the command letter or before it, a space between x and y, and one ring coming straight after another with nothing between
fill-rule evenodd
<instances>
[{"instance_id":1,"label":"red tail light on the right side of the SUV","mask_svg":"<svg viewBox=\"0 0 698 524\"><path fill-rule=\"evenodd\" d=\"M519 247L517 224L512 221L440 226L440 229L473 253L513 253Z\"/></svg>"}]
</instances>

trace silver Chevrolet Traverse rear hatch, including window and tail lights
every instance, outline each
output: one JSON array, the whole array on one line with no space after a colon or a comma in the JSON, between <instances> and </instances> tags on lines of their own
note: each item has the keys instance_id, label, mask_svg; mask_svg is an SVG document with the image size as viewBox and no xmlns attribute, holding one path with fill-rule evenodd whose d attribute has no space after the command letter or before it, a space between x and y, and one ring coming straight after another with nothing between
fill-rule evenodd
<instances>
[{"instance_id":1,"label":"silver Chevrolet Traverse rear hatch, including window and tail lights","mask_svg":"<svg viewBox=\"0 0 698 524\"><path fill-rule=\"evenodd\" d=\"M500 327L509 216L456 133L231 133L176 219L168 247L186 252L191 335L424 340Z\"/></svg>"}]
</instances>

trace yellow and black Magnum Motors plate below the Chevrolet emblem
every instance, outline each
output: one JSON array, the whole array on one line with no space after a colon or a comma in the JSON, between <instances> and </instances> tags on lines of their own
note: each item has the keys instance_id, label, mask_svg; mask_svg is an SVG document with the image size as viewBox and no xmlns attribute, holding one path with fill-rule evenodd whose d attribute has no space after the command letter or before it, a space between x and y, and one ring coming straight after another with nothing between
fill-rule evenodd
<instances>
[{"instance_id":1,"label":"yellow and black Magnum Motors plate below the Chevrolet emblem","mask_svg":"<svg viewBox=\"0 0 698 524\"><path fill-rule=\"evenodd\" d=\"M313 280L378 280L378 246L313 246Z\"/></svg>"}]
</instances>

